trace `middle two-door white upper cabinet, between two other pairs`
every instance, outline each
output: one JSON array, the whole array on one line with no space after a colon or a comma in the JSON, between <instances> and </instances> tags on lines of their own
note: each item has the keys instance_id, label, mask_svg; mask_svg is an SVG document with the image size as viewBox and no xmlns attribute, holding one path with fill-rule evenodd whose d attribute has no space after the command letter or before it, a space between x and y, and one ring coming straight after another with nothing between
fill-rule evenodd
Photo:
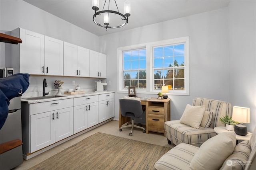
<instances>
[{"instance_id":1,"label":"middle two-door white upper cabinet, between two other pairs","mask_svg":"<svg viewBox=\"0 0 256 170\"><path fill-rule=\"evenodd\" d=\"M64 76L89 76L89 49L64 42Z\"/></svg>"}]
</instances>

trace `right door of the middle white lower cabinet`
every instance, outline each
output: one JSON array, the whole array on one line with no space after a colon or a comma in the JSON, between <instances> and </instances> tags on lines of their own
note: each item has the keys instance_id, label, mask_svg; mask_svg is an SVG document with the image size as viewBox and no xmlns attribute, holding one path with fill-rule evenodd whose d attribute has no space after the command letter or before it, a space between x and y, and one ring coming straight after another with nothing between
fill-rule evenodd
<instances>
[{"instance_id":1,"label":"right door of the middle white lower cabinet","mask_svg":"<svg viewBox=\"0 0 256 170\"><path fill-rule=\"evenodd\" d=\"M98 124L98 102L87 104L88 128Z\"/></svg>"}]
</instances>

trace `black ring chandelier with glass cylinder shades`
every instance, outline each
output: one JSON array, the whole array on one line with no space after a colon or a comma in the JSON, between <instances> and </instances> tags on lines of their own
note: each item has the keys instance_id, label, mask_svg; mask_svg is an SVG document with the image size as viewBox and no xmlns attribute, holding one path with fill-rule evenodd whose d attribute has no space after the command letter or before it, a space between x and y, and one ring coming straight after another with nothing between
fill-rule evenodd
<instances>
[{"instance_id":1,"label":"black ring chandelier with glass cylinder shades","mask_svg":"<svg viewBox=\"0 0 256 170\"><path fill-rule=\"evenodd\" d=\"M99 0L92 0L92 10L94 10L95 12L92 17L92 20L97 25L106 28L106 31L108 28L123 27L126 23L128 23L128 17L131 15L130 1L124 2L124 14L121 14L119 12L116 4L116 0L112 0L112 1L115 2L116 11L110 10L110 0L108 0L108 4L106 4L107 0L105 0L102 11L96 12L99 10ZM104 10L106 5L108 5L108 9ZM110 22L110 18L111 18L111 22Z\"/></svg>"}]
</instances>

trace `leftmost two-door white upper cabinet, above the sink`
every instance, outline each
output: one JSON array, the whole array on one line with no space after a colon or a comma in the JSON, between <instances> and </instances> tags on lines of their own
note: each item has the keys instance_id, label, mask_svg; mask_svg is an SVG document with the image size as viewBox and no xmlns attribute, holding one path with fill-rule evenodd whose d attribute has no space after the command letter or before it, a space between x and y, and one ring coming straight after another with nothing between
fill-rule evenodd
<instances>
[{"instance_id":1,"label":"leftmost two-door white upper cabinet, above the sink","mask_svg":"<svg viewBox=\"0 0 256 170\"><path fill-rule=\"evenodd\" d=\"M22 28L12 31L12 35L19 35L22 39L19 46L12 46L12 65L15 70L28 74L63 76L63 41Z\"/></svg>"}]
</instances>

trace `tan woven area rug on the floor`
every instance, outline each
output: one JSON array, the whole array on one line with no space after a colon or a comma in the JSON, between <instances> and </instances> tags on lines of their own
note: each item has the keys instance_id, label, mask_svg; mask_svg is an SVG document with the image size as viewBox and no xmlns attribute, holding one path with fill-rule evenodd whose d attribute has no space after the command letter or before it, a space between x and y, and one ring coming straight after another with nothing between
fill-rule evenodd
<instances>
[{"instance_id":1,"label":"tan woven area rug on the floor","mask_svg":"<svg viewBox=\"0 0 256 170\"><path fill-rule=\"evenodd\" d=\"M30 170L154 170L170 149L98 132Z\"/></svg>"}]
</instances>

